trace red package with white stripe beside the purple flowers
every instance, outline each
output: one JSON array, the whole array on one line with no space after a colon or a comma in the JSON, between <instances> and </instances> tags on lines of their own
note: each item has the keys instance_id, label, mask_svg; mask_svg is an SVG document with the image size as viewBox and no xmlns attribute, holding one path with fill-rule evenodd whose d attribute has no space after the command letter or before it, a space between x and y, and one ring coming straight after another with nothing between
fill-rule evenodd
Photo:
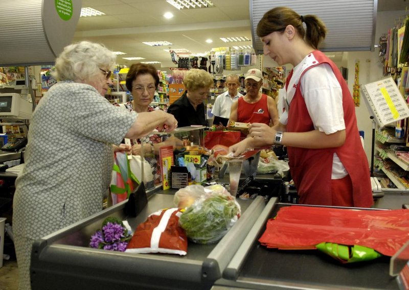
<instances>
[{"instance_id":1,"label":"red package with white stripe beside the purple flowers","mask_svg":"<svg viewBox=\"0 0 409 290\"><path fill-rule=\"evenodd\" d=\"M140 224L126 248L127 253L167 253L186 255L188 240L179 227L181 209L156 211Z\"/></svg>"}]
</instances>

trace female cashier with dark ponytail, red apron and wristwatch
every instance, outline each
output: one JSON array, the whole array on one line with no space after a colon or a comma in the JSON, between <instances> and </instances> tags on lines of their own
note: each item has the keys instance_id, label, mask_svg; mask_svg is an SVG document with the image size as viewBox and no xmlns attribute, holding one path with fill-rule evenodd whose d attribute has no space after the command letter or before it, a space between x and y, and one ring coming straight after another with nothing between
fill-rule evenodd
<instances>
[{"instance_id":1,"label":"female cashier with dark ponytail, red apron and wristwatch","mask_svg":"<svg viewBox=\"0 0 409 290\"><path fill-rule=\"evenodd\" d=\"M336 65L317 50L327 29L314 15L286 7L266 12L257 25L264 55L293 69L286 80L279 124L252 124L249 138L230 148L287 146L300 203L348 207L373 204L369 165L355 107Z\"/></svg>"}]
</instances>

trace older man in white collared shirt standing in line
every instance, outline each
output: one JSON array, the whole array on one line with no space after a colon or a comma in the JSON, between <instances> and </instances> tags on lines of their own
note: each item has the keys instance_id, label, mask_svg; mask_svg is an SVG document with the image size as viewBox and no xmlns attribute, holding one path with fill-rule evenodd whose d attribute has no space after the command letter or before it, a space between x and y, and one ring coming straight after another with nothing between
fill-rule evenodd
<instances>
[{"instance_id":1,"label":"older man in white collared shirt standing in line","mask_svg":"<svg viewBox=\"0 0 409 290\"><path fill-rule=\"evenodd\" d=\"M228 90L217 96L212 109L213 115L222 118L230 117L230 108L232 107L233 101L236 101L243 96L237 91L238 87L240 86L238 76L229 75L226 79L226 84Z\"/></svg>"}]
</instances>

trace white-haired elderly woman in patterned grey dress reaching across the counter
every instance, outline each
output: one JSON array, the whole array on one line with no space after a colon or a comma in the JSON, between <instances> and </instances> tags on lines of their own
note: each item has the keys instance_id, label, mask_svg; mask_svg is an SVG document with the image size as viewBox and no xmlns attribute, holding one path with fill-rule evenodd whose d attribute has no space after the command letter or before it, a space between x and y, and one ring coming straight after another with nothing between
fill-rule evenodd
<instances>
[{"instance_id":1,"label":"white-haired elderly woman in patterned grey dress reaching across the counter","mask_svg":"<svg viewBox=\"0 0 409 290\"><path fill-rule=\"evenodd\" d=\"M104 98L115 62L115 54L100 44L66 46L55 63L58 83L33 113L26 165L16 180L13 201L19 289L30 289L36 239L102 210L112 172L112 144L146 136L157 126L167 125L168 131L177 126L164 111L128 112Z\"/></svg>"}]
</instances>

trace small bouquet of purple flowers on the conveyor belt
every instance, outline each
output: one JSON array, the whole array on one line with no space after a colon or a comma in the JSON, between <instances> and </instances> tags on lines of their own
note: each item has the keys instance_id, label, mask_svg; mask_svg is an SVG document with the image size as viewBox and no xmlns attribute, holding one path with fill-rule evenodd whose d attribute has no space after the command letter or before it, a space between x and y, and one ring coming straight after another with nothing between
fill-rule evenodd
<instances>
[{"instance_id":1,"label":"small bouquet of purple flowers on the conveyor belt","mask_svg":"<svg viewBox=\"0 0 409 290\"><path fill-rule=\"evenodd\" d=\"M117 218L108 217L102 228L91 236L89 246L95 249L125 252L132 234Z\"/></svg>"}]
</instances>

